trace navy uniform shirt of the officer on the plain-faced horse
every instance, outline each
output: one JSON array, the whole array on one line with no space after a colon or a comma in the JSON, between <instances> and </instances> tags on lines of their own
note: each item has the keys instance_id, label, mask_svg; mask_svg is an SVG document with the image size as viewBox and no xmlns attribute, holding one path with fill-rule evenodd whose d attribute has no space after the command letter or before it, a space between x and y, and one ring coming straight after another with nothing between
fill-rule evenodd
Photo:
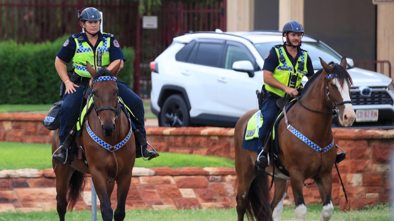
<instances>
[{"instance_id":1,"label":"navy uniform shirt of the officer on the plain-faced horse","mask_svg":"<svg viewBox=\"0 0 394 221\"><path fill-rule=\"evenodd\" d=\"M98 35L99 35L99 39L97 39L96 45L93 46L87 39L86 33L82 33L82 36L84 36L85 41L89 44L89 46L91 46L93 51L96 51L96 48L99 45L100 41L104 41L104 37L102 36L102 33L99 32ZM114 42L116 46L114 45ZM57 56L59 57L60 60L64 61L65 63L69 63L72 60L72 57L74 57L75 49L76 49L76 43L74 38L71 36L60 48L60 51L58 52ZM123 61L126 60L125 55L123 55L122 49L119 46L119 42L117 42L117 40L115 39L115 36L110 38L110 48L108 49L108 52L110 53L110 62L118 59L123 59Z\"/></svg>"}]
</instances>

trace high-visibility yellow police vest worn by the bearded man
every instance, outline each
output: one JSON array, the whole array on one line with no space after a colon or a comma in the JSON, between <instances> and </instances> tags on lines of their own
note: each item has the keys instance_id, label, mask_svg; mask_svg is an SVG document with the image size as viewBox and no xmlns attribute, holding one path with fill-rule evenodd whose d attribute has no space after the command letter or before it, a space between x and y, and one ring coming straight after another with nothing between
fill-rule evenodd
<instances>
[{"instance_id":1,"label":"high-visibility yellow police vest worn by the bearded man","mask_svg":"<svg viewBox=\"0 0 394 221\"><path fill-rule=\"evenodd\" d=\"M301 55L298 57L297 64L293 67L290 59L288 58L286 51L283 46L275 47L275 51L278 55L279 65L275 68L273 72L273 77L288 87L298 89L301 85L302 77L308 74L307 70L307 56L308 53L304 50L301 50ZM292 81L293 80L293 81ZM286 93L283 90L278 88L274 88L266 85L266 90L277 94L278 96L284 97Z\"/></svg>"}]
</instances>

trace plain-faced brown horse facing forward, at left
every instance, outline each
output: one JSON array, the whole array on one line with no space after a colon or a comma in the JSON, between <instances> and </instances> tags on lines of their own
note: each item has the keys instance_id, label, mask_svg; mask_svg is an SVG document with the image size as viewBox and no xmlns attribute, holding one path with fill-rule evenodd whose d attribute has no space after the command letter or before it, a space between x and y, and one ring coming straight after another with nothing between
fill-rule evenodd
<instances>
[{"instance_id":1,"label":"plain-faced brown horse facing forward, at left","mask_svg":"<svg viewBox=\"0 0 394 221\"><path fill-rule=\"evenodd\" d=\"M136 147L128 116L119 108L117 85L113 79L120 63L111 71L103 68L96 72L90 64L87 70L93 76L93 103L96 111L86 116L79 144L84 147L89 168L76 157L71 166L52 165L56 174L56 200L59 219L64 220L67 205L72 210L84 189L84 173L90 173L100 200L100 209L104 221L125 218L125 203L130 188L132 169L135 162ZM112 79L112 80L106 80ZM95 81L97 80L97 81ZM89 126L89 129L87 127ZM90 134L89 134L89 132ZM93 134L92 134L93 133ZM105 149L93 140L102 139L108 144ZM128 140L119 147L119 143ZM59 146L59 131L54 133L52 152ZM105 145L104 145L105 146ZM115 151L116 150L116 151ZM117 207L111 208L111 194L117 183Z\"/></svg>"}]
</instances>

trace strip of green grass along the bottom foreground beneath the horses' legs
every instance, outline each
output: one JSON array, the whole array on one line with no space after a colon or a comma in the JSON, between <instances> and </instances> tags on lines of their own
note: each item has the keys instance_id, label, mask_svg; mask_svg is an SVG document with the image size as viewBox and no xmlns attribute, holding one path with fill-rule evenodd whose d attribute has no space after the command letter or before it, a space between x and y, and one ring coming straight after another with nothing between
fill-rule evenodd
<instances>
[{"instance_id":1,"label":"strip of green grass along the bottom foreground beneath the horses' legs","mask_svg":"<svg viewBox=\"0 0 394 221\"><path fill-rule=\"evenodd\" d=\"M322 206L308 205L307 206L307 220L318 220ZM331 220L346 220L346 221L390 221L391 209L387 205L375 206L374 208L365 210L354 210L351 212L340 212L338 207L335 207L334 214ZM165 217L163 219L163 217ZM228 221L236 220L237 212L235 209L223 210L130 210L126 211L125 221L148 221L154 219L171 220L171 221ZM98 212L97 220L101 219L101 214ZM296 220L294 215L294 207L284 207L282 220ZM0 220L13 221L57 221L59 220L56 211L51 212L30 212L30 213L0 213ZM67 212L66 220L90 221L90 211L74 211ZM245 219L246 220L246 219Z\"/></svg>"}]
</instances>

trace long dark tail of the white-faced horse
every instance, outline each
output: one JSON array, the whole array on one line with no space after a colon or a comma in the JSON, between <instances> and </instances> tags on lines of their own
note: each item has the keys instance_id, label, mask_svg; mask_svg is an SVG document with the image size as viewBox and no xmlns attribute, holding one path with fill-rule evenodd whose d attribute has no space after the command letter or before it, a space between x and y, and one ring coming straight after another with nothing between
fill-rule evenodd
<instances>
[{"instance_id":1,"label":"long dark tail of the white-faced horse","mask_svg":"<svg viewBox=\"0 0 394 221\"><path fill-rule=\"evenodd\" d=\"M258 221L272 221L267 182L268 179L265 174L258 174L250 185L248 198L251 209L248 206L246 215L251 220L253 220L254 216ZM253 216L251 210L253 211Z\"/></svg>"}]
</instances>

